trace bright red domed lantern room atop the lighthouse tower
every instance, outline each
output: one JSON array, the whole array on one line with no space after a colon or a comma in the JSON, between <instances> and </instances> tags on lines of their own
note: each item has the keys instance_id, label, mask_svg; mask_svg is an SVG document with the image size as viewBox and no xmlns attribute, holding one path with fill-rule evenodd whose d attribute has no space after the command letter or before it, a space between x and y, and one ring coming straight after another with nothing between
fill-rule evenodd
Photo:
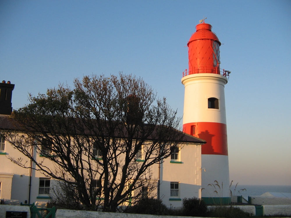
<instances>
[{"instance_id":1,"label":"bright red domed lantern room atop the lighthouse tower","mask_svg":"<svg viewBox=\"0 0 291 218\"><path fill-rule=\"evenodd\" d=\"M211 31L210 24L197 24L196 32L190 37L188 46L189 74L212 73L220 74L219 42L218 37Z\"/></svg>"}]
</instances>

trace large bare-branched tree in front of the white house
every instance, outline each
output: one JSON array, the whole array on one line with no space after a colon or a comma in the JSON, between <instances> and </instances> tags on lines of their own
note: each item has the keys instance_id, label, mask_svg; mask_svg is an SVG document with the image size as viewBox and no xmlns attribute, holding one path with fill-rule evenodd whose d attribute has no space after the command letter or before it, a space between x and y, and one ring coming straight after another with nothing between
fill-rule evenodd
<instances>
[{"instance_id":1,"label":"large bare-branched tree in front of the white house","mask_svg":"<svg viewBox=\"0 0 291 218\"><path fill-rule=\"evenodd\" d=\"M73 89L59 85L29 101L11 115L17 131L2 134L36 170L74 187L86 210L115 212L143 198L156 186L152 166L184 137L177 112L132 75L84 76Z\"/></svg>"}]
</instances>

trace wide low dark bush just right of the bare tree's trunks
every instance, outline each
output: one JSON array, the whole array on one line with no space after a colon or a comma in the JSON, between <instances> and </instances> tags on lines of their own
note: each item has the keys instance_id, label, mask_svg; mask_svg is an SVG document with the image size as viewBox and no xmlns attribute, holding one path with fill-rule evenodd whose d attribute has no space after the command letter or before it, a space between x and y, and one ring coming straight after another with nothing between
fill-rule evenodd
<instances>
[{"instance_id":1,"label":"wide low dark bush just right of the bare tree's trunks","mask_svg":"<svg viewBox=\"0 0 291 218\"><path fill-rule=\"evenodd\" d=\"M155 198L143 199L130 207L126 212L151 215L168 215L169 213L166 205L161 200Z\"/></svg>"}]
</instances>

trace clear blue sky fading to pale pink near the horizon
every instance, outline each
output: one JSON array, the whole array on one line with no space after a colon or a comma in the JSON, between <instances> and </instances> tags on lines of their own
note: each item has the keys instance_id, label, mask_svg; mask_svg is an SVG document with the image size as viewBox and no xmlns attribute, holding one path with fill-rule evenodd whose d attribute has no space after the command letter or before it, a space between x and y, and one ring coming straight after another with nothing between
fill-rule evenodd
<instances>
[{"instance_id":1,"label":"clear blue sky fading to pale pink near the horizon","mask_svg":"<svg viewBox=\"0 0 291 218\"><path fill-rule=\"evenodd\" d=\"M183 116L187 42L200 19L221 44L230 180L291 185L291 1L0 1L0 80L29 93L74 78L140 76Z\"/></svg>"}]
</instances>

